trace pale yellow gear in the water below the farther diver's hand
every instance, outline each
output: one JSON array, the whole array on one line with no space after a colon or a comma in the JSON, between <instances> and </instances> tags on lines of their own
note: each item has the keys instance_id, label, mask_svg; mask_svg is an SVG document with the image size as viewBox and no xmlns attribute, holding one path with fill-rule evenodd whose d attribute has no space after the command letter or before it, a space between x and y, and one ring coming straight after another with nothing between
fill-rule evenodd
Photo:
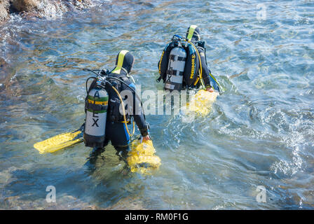
<instances>
[{"instance_id":1,"label":"pale yellow gear in the water below the farther diver's hand","mask_svg":"<svg viewBox=\"0 0 314 224\"><path fill-rule=\"evenodd\" d=\"M186 104L186 112L195 112L201 116L206 116L212 109L212 104L216 101L218 92L208 92L206 90L199 90L191 97L189 103Z\"/></svg>"}]
</instances>

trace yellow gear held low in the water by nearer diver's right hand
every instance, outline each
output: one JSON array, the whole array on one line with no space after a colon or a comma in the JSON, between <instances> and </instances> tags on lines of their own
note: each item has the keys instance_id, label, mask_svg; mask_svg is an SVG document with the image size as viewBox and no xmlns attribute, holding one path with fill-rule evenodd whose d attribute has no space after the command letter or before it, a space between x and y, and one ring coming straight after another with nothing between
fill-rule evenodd
<instances>
[{"instance_id":1,"label":"yellow gear held low in the water by nearer diver's right hand","mask_svg":"<svg viewBox=\"0 0 314 224\"><path fill-rule=\"evenodd\" d=\"M156 151L151 140L141 142L138 139L132 141L131 150L127 158L131 172L150 174L153 169L158 169L161 165L161 158L154 155L154 153Z\"/></svg>"}]
</instances>

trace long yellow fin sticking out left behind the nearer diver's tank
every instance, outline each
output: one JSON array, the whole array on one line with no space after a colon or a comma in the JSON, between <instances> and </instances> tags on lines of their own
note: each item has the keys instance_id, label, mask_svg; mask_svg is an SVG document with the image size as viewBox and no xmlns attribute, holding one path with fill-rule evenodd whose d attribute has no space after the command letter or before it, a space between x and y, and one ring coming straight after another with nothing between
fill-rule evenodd
<instances>
[{"instance_id":1,"label":"long yellow fin sticking out left behind the nearer diver's tank","mask_svg":"<svg viewBox=\"0 0 314 224\"><path fill-rule=\"evenodd\" d=\"M83 129L80 128L74 132L67 132L63 134L58 134L55 137L46 139L44 141L37 142L34 144L34 148L39 151L40 154L43 153L54 153L62 148L67 148L78 144L83 140Z\"/></svg>"}]
</instances>

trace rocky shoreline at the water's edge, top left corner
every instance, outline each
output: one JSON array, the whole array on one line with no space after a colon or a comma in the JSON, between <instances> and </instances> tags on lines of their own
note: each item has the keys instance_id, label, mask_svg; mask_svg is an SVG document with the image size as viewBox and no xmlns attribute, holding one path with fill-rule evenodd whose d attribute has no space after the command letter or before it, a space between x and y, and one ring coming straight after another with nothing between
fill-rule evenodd
<instances>
[{"instance_id":1,"label":"rocky shoreline at the water's edge, top left corner","mask_svg":"<svg viewBox=\"0 0 314 224\"><path fill-rule=\"evenodd\" d=\"M73 9L92 6L92 0L0 0L0 24L12 13L26 17L54 18Z\"/></svg>"}]
</instances>

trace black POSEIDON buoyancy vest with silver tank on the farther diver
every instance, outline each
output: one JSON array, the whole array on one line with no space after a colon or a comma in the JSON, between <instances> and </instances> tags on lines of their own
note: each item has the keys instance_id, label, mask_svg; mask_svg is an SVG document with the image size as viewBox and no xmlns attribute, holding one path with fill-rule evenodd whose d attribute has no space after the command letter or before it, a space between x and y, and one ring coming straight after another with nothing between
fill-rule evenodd
<instances>
[{"instance_id":1,"label":"black POSEIDON buoyancy vest with silver tank on the farther diver","mask_svg":"<svg viewBox=\"0 0 314 224\"><path fill-rule=\"evenodd\" d=\"M200 62L198 52L192 43L180 36L173 36L172 41L165 46L158 62L160 77L165 90L181 90L182 87L194 87L198 80Z\"/></svg>"}]
</instances>

